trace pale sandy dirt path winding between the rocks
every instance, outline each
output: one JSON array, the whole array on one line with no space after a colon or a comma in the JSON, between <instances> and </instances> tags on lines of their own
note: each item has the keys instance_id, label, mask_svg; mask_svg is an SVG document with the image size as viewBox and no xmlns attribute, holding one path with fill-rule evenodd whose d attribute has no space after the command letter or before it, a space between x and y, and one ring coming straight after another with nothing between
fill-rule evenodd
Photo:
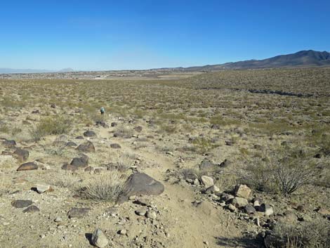
<instances>
[{"instance_id":1,"label":"pale sandy dirt path winding between the rocks","mask_svg":"<svg viewBox=\"0 0 330 248\"><path fill-rule=\"evenodd\" d=\"M136 153L136 150L131 148L131 143L121 138L113 138L112 133L106 129L100 131L100 136L119 143L124 152ZM227 245L219 242L219 240L235 240L237 237L242 237L242 232L235 226L230 213L208 200L202 200L201 204L194 207L192 202L196 200L197 195L192 188L188 185L164 181L165 171L175 168L173 157L150 150L139 150L138 156L144 162L156 165L147 167L143 172L165 185L163 194L166 197L162 197L159 204L169 209L166 218L171 218L176 223L171 231L171 238L176 244L173 247L240 247L235 242ZM236 218L234 219L237 221Z\"/></svg>"}]
</instances>

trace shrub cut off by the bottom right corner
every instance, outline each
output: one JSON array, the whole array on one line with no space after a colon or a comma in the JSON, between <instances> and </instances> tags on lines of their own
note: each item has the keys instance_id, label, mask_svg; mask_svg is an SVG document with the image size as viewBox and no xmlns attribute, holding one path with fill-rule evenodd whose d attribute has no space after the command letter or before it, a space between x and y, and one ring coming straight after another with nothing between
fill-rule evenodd
<instances>
[{"instance_id":1,"label":"shrub cut off by the bottom right corner","mask_svg":"<svg viewBox=\"0 0 330 248\"><path fill-rule=\"evenodd\" d=\"M271 237L270 245L276 248L327 248L330 247L330 225L323 220L298 227L279 223Z\"/></svg>"}]
</instances>

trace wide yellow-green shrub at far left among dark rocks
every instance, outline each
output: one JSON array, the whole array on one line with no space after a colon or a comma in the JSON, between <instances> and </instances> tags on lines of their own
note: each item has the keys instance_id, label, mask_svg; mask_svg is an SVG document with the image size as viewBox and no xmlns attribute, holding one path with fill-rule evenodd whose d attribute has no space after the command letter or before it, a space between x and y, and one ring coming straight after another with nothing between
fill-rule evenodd
<instances>
[{"instance_id":1,"label":"wide yellow-green shrub at far left among dark rocks","mask_svg":"<svg viewBox=\"0 0 330 248\"><path fill-rule=\"evenodd\" d=\"M71 129L72 119L62 115L55 115L54 117L41 119L37 126L30 129L29 133L34 141L39 141L40 138L46 135L69 133Z\"/></svg>"}]
</instances>

